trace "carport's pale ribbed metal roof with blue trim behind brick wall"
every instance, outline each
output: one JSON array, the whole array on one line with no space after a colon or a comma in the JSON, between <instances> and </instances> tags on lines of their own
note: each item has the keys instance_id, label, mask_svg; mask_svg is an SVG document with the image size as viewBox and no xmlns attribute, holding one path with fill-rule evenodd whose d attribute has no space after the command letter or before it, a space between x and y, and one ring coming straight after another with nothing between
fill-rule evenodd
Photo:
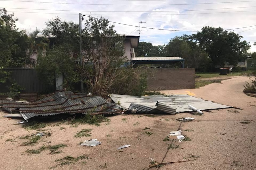
<instances>
[{"instance_id":1,"label":"carport's pale ribbed metal roof with blue trim behind brick wall","mask_svg":"<svg viewBox=\"0 0 256 170\"><path fill-rule=\"evenodd\" d=\"M181 67L184 68L185 59L181 57L134 57L131 60L134 64L174 64L181 63Z\"/></svg>"}]
</instances>

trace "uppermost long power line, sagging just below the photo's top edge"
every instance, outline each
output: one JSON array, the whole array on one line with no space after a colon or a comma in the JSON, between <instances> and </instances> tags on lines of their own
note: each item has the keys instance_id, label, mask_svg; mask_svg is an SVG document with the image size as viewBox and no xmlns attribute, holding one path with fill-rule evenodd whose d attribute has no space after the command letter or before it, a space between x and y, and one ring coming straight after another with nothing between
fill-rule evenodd
<instances>
[{"instance_id":1,"label":"uppermost long power line, sagging just below the photo's top edge","mask_svg":"<svg viewBox=\"0 0 256 170\"><path fill-rule=\"evenodd\" d=\"M255 2L255 1L234 1L234 2L210 2L210 3L193 3L193 4L81 4L81 3L63 3L63 2L42 2L42 1L15 1L15 0L0 0L13 2L33 2L45 4L72 4L72 5L113 5L113 6L169 6L169 5L202 5L202 4L230 4L239 2Z\"/></svg>"}]
</instances>

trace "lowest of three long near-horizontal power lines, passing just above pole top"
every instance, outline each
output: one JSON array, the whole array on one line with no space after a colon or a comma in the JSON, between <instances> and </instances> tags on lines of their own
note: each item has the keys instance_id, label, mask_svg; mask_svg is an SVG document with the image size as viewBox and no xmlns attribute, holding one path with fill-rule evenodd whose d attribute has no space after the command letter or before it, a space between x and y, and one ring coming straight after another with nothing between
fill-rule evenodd
<instances>
[{"instance_id":1,"label":"lowest of three long near-horizontal power lines, passing just above pole top","mask_svg":"<svg viewBox=\"0 0 256 170\"><path fill-rule=\"evenodd\" d=\"M230 11L230 12L208 12L208 13L194 13L194 14L86 14L86 15L101 15L101 16L166 16L166 15L197 15L197 14L222 14L222 13L234 13L234 12L255 12L252 11ZM65 13L49 13L49 12L27 12L27 11L9 11L9 12L22 12L22 13L37 13L37 14L65 14ZM65 15L77 15L68 14Z\"/></svg>"}]
</instances>

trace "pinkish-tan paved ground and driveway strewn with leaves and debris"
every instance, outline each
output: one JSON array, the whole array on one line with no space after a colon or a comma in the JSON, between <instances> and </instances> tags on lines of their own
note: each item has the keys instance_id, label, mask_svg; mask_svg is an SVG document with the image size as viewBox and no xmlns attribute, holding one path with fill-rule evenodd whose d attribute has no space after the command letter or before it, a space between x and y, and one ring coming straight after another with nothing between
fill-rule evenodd
<instances>
[{"instance_id":1,"label":"pinkish-tan paved ground and driveway strewn with leaves and debris","mask_svg":"<svg viewBox=\"0 0 256 170\"><path fill-rule=\"evenodd\" d=\"M239 107L238 109L212 110L204 112L203 116L189 113L176 115L162 114L154 117L145 115L119 115L108 117L111 122L103 122L100 126L83 124L72 127L59 122L47 123L44 128L51 136L42 137L32 146L22 146L26 139L20 136L31 135L36 130L26 130L17 125L18 119L2 117L6 112L0 112L0 162L4 170L34 170L50 169L58 162L56 159L66 156L78 157L83 154L89 159L75 163L57 166L56 170L65 169L143 169L156 162L188 161L167 164L160 170L253 170L256 169L256 133L255 113L256 98L245 95L243 90L247 77L234 77L223 80L222 84L212 83L198 89L166 90L166 94L190 94L216 103ZM195 117L193 122L178 122L180 117ZM247 122L247 124L241 123ZM55 124L59 126L56 126ZM61 124L62 123L62 124ZM55 125L55 126L54 126ZM145 129L148 127L150 129ZM81 129L92 129L90 137L75 138ZM192 141L163 139L172 130L182 130L182 133ZM145 132L150 132L145 133ZM14 139L9 140L8 139ZM79 145L84 140L98 139L102 145L90 147ZM66 144L61 148L63 153L49 154L43 150L39 154L28 154L27 149L38 149L43 145ZM117 150L119 146L129 144L131 147ZM178 148L168 147L177 146ZM191 157L192 155L197 158ZM191 157L191 158L189 158ZM155 168L151 168L155 169Z\"/></svg>"}]
</instances>

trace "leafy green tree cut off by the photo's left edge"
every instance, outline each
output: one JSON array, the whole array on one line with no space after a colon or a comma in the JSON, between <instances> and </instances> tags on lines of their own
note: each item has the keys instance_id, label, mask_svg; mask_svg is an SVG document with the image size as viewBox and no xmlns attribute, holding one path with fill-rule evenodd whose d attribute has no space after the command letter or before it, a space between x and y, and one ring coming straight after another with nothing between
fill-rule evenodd
<instances>
[{"instance_id":1,"label":"leafy green tree cut off by the photo's left edge","mask_svg":"<svg viewBox=\"0 0 256 170\"><path fill-rule=\"evenodd\" d=\"M22 67L26 60L26 38L15 22L14 14L7 14L6 9L0 9L0 82L6 82L10 73L5 68Z\"/></svg>"}]
</instances>

